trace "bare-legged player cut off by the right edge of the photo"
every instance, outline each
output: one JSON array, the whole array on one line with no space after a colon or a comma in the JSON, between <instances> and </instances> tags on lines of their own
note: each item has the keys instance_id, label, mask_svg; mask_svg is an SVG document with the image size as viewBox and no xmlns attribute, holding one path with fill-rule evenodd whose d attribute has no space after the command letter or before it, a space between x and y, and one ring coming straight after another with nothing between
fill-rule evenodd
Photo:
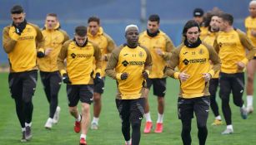
<instances>
[{"instance_id":1,"label":"bare-legged player cut off by the right edge of the photo","mask_svg":"<svg viewBox=\"0 0 256 145\"><path fill-rule=\"evenodd\" d=\"M252 41L253 46L256 46L256 1L253 0L249 3L248 11L250 16L245 19L244 25L246 34ZM247 111L248 114L253 113L253 80L256 71L256 56L250 60L247 65Z\"/></svg>"}]
</instances>

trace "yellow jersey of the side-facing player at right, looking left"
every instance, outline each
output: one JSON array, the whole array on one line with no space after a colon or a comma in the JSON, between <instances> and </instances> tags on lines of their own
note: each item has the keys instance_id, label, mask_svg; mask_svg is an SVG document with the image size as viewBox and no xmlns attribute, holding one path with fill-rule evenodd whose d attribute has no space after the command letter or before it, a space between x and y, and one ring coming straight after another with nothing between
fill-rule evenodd
<instances>
[{"instance_id":1,"label":"yellow jersey of the side-facing player at right, looking left","mask_svg":"<svg viewBox=\"0 0 256 145\"><path fill-rule=\"evenodd\" d=\"M238 61L247 65L248 60L251 60L256 52L252 42L243 31L238 29L228 32L219 31L213 46L222 63L220 72L227 74L243 72L238 70ZM248 49L247 55L245 49Z\"/></svg>"}]
</instances>

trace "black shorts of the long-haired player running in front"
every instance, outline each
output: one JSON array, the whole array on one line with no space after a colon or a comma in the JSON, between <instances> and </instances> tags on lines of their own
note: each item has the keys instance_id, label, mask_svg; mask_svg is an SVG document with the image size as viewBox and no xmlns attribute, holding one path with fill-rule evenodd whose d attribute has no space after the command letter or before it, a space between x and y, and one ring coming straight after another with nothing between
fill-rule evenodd
<instances>
[{"instance_id":1,"label":"black shorts of the long-haired player running in front","mask_svg":"<svg viewBox=\"0 0 256 145\"><path fill-rule=\"evenodd\" d=\"M197 119L207 119L209 106L209 96L197 97L193 99L178 98L178 118L181 120L191 119L193 118L194 112Z\"/></svg>"}]
</instances>

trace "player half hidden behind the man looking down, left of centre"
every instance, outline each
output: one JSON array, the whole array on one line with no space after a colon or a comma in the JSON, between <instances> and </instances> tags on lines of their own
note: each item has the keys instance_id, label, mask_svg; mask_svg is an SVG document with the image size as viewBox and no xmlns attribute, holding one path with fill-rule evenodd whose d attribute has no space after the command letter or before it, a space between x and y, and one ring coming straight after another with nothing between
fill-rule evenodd
<instances>
[{"instance_id":1,"label":"player half hidden behind the man looking down, left of centre","mask_svg":"<svg viewBox=\"0 0 256 145\"><path fill-rule=\"evenodd\" d=\"M100 27L100 19L98 17L88 18L88 40L97 44L102 52L102 72L101 77L103 81L94 86L93 93L93 121L91 123L91 129L98 129L99 114L102 109L101 96L104 91L104 80L105 80L105 68L109 56L113 49L116 47L113 39L103 31L103 27Z\"/></svg>"}]
</instances>

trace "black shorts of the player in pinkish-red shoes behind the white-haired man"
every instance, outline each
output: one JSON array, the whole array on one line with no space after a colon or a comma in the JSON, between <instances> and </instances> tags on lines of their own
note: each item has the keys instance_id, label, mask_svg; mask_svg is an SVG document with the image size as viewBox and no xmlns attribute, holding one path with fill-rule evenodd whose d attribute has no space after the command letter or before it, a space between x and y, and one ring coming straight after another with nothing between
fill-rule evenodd
<instances>
[{"instance_id":1,"label":"black shorts of the player in pinkish-red shoes behind the white-haired man","mask_svg":"<svg viewBox=\"0 0 256 145\"><path fill-rule=\"evenodd\" d=\"M147 79L147 88L150 89L153 85L153 95L164 97L166 92L166 78L162 79Z\"/></svg>"}]
</instances>

